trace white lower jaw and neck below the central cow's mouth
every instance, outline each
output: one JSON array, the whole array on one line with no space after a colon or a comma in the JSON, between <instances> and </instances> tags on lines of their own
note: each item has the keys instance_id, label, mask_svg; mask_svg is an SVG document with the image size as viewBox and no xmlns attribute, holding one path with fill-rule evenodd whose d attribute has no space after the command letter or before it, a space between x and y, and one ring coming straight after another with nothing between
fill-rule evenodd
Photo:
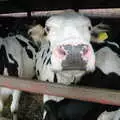
<instances>
[{"instance_id":1,"label":"white lower jaw and neck below the central cow's mouth","mask_svg":"<svg viewBox=\"0 0 120 120\"><path fill-rule=\"evenodd\" d=\"M46 72L48 72L47 70ZM44 71L45 72L45 71ZM49 72L46 73L47 78L50 82L54 83L62 83L64 85L70 85L71 83L76 83L80 80L81 76L84 74L84 71L62 71L62 72L51 72L51 76L49 76ZM53 77L52 77L53 76ZM53 80L52 80L52 79ZM44 76L45 79L45 76ZM56 96L50 96L50 95L44 95L43 96L43 102L45 103L48 100L55 100L55 101L61 101L64 97L56 97Z\"/></svg>"}]
</instances>

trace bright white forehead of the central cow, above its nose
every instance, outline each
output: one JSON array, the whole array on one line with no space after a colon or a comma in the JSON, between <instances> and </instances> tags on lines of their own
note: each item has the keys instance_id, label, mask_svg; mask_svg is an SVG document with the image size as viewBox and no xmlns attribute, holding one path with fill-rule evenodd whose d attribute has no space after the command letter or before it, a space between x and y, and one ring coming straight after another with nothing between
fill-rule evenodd
<instances>
[{"instance_id":1,"label":"bright white forehead of the central cow, above its nose","mask_svg":"<svg viewBox=\"0 0 120 120\"><path fill-rule=\"evenodd\" d=\"M51 49L73 42L89 44L91 36L88 26L91 26L90 20L74 12L50 17L46 27L50 29L47 40L51 42Z\"/></svg>"}]
</instances>

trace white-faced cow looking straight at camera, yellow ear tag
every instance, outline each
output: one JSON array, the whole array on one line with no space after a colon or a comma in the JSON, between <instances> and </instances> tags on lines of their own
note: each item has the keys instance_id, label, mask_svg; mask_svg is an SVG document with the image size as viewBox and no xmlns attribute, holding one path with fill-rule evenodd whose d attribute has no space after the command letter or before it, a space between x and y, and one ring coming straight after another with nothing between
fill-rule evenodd
<instances>
[{"instance_id":1,"label":"white-faced cow looking straight at camera, yellow ear tag","mask_svg":"<svg viewBox=\"0 0 120 120\"><path fill-rule=\"evenodd\" d=\"M53 15L44 28L41 25L31 28L28 34L36 44L39 43L36 55L38 80L70 85L77 83L85 73L93 72L95 54L91 36L95 35L95 38L102 30L95 34L94 31L96 28L93 29L90 19L75 12ZM62 99L44 95L43 103Z\"/></svg>"}]
</instances>

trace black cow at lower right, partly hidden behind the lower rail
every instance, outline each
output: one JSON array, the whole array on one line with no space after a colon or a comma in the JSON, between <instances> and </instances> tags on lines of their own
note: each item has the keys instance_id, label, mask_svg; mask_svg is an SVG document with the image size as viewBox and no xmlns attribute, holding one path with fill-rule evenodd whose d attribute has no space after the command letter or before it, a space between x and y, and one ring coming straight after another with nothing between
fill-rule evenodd
<instances>
[{"instance_id":1,"label":"black cow at lower right, partly hidden behind the lower rail","mask_svg":"<svg viewBox=\"0 0 120 120\"><path fill-rule=\"evenodd\" d=\"M96 88L109 88L119 90L119 80L120 76L118 76L117 74L110 73L107 75L104 74L103 71L99 68L96 68L94 72L84 74L81 77L81 80L76 84L76 86L90 86ZM64 98L63 100L58 102L48 100L43 105L43 110L46 111L44 120L108 120L105 118L107 116L111 118L114 117L111 116L111 113L114 113L114 110L118 111L118 109L119 106L87 101L85 102L67 98ZM117 118L119 118L118 115L119 114L116 115Z\"/></svg>"}]
</instances>

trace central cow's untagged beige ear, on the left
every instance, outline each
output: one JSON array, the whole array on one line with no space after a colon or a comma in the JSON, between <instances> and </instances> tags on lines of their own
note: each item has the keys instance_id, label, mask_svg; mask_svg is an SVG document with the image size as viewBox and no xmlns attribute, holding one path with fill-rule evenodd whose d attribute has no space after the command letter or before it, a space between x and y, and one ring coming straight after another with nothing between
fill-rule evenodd
<instances>
[{"instance_id":1,"label":"central cow's untagged beige ear, on the left","mask_svg":"<svg viewBox=\"0 0 120 120\"><path fill-rule=\"evenodd\" d=\"M39 42L44 39L44 28L40 24L31 26L28 30L28 35L35 42Z\"/></svg>"}]
</instances>

